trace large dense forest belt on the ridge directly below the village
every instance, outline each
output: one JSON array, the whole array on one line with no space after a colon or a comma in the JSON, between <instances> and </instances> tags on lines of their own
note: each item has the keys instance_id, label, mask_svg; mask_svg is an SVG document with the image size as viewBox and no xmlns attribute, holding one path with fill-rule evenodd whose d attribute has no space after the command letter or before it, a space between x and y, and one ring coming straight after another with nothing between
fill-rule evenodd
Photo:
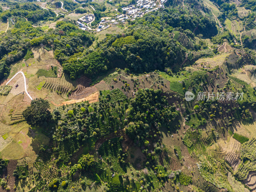
<instances>
[{"instance_id":1,"label":"large dense forest belt on the ridge directly below the village","mask_svg":"<svg viewBox=\"0 0 256 192\"><path fill-rule=\"evenodd\" d=\"M195 29L207 37L217 34L214 22L201 13L187 16L175 9L152 12L131 22L125 34L107 35L97 44L95 51L85 50L65 59L64 72L72 79L83 73L94 78L109 68L118 67L116 60L123 60L129 69L136 72L173 67L185 60L186 51L185 47L170 38L174 28L185 30L191 38L194 37L191 30Z\"/></svg>"}]
</instances>

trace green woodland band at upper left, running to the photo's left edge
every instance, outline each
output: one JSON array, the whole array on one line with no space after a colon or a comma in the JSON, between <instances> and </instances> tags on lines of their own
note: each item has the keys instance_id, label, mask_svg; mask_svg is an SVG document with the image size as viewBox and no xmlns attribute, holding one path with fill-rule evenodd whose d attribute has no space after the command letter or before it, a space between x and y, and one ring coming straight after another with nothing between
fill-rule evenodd
<instances>
[{"instance_id":1,"label":"green woodland band at upper left, running to the photo's left edge","mask_svg":"<svg viewBox=\"0 0 256 192\"><path fill-rule=\"evenodd\" d=\"M63 61L68 56L92 44L94 37L87 31L78 29L68 21L59 21L56 29L44 32L41 28L34 28L31 22L17 17L14 28L0 37L0 79L7 76L10 69L7 65L20 60L30 46L44 44L53 48L55 58Z\"/></svg>"}]
</instances>

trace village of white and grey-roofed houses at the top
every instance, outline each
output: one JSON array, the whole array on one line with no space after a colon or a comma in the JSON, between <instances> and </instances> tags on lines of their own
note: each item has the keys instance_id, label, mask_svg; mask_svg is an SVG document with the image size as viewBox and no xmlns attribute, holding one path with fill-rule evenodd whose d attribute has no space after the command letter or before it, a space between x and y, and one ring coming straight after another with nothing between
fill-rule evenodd
<instances>
[{"instance_id":1,"label":"village of white and grey-roofed houses at the top","mask_svg":"<svg viewBox=\"0 0 256 192\"><path fill-rule=\"evenodd\" d=\"M123 14L116 14L116 17L112 19L102 19L97 24L96 28L91 28L91 23L95 20L94 14L84 15L79 18L76 23L79 28L83 30L91 30L96 33L113 25L125 23L126 20L135 20L137 17L143 17L146 13L156 11L159 8L164 8L165 1L166 0L138 0L136 4L123 7Z\"/></svg>"}]
</instances>

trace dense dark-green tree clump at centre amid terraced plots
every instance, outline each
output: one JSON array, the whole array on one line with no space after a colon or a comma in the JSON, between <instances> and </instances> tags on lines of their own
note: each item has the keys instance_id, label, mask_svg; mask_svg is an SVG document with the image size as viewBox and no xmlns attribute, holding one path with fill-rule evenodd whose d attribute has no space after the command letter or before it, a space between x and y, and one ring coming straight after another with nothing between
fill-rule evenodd
<instances>
[{"instance_id":1,"label":"dense dark-green tree clump at centre amid terraced plots","mask_svg":"<svg viewBox=\"0 0 256 192\"><path fill-rule=\"evenodd\" d=\"M161 93L161 90L140 89L135 99L130 101L126 110L126 118L130 121L126 133L131 139L144 144L151 125L168 124L178 116L178 112L168 106L166 97Z\"/></svg>"}]
</instances>

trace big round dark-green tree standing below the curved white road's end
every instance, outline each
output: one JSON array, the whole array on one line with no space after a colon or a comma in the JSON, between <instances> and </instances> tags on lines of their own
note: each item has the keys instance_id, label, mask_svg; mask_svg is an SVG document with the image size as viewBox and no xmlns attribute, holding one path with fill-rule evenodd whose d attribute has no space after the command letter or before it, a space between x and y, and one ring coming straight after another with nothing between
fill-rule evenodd
<instances>
[{"instance_id":1,"label":"big round dark-green tree standing below the curved white road's end","mask_svg":"<svg viewBox=\"0 0 256 192\"><path fill-rule=\"evenodd\" d=\"M47 100L36 98L36 100L31 101L31 105L23 111L22 115L29 125L39 126L52 118L48 108L50 108L50 104Z\"/></svg>"}]
</instances>

